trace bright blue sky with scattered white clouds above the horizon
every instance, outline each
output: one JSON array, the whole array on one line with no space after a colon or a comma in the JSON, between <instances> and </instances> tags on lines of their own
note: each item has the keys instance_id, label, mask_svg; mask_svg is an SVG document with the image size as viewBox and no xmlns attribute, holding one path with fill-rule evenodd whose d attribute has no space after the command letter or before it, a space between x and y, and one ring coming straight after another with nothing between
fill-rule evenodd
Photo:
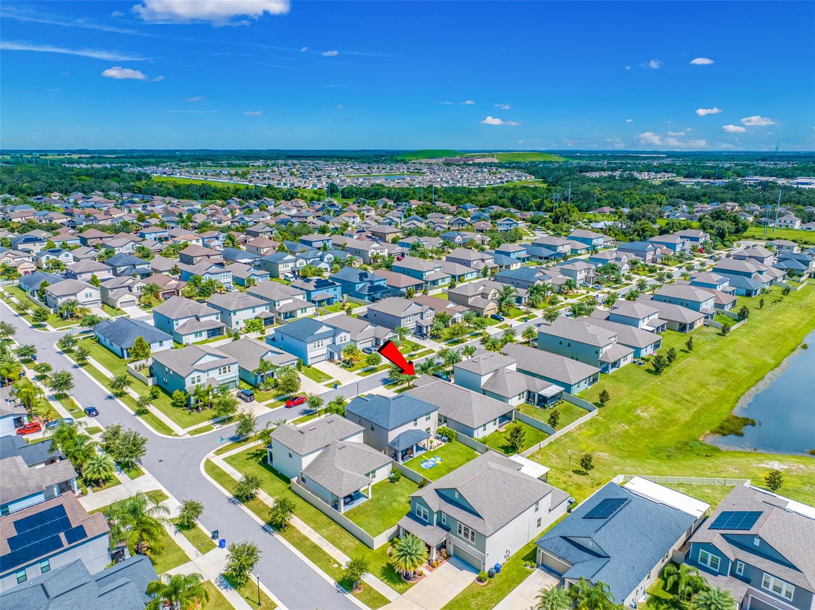
<instances>
[{"instance_id":1,"label":"bright blue sky with scattered white clouds above the horizon","mask_svg":"<svg viewBox=\"0 0 815 610\"><path fill-rule=\"evenodd\" d=\"M0 146L813 150L813 23L813 2L7 1Z\"/></svg>"}]
</instances>

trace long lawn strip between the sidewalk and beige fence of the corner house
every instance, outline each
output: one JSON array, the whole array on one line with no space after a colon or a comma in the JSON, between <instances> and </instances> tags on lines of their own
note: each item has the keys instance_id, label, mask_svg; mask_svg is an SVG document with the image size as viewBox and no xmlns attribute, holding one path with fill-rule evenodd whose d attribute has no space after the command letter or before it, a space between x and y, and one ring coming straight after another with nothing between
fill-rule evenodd
<instances>
[{"instance_id":1,"label":"long lawn strip between the sidewalk and beige fence of the corner house","mask_svg":"<svg viewBox=\"0 0 815 610\"><path fill-rule=\"evenodd\" d=\"M262 481L262 489L272 498L289 498L292 500L296 507L295 515L349 557L362 556L366 558L370 564L371 573L385 581L394 590L401 593L410 588L411 585L403 581L402 577L390 566L390 559L385 552L387 551L387 545L381 546L377 551L372 551L340 524L330 520L322 512L312 507L311 504L294 494L289 488L289 480L266 463L265 449L260 447L241 451L238 454L230 455L226 458L226 462L242 474L251 472L258 476ZM232 481L234 483L234 480ZM287 528L286 531L288 532L289 529L292 528ZM370 587L365 588L366 591L369 589Z\"/></svg>"}]
</instances>

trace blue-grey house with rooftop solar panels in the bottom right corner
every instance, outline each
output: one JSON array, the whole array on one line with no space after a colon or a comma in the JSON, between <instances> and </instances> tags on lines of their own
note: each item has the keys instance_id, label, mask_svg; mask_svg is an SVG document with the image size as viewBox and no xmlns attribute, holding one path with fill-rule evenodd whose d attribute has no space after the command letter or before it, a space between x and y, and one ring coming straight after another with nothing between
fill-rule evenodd
<instances>
[{"instance_id":1,"label":"blue-grey house with rooftop solar panels in the bottom right corner","mask_svg":"<svg viewBox=\"0 0 815 610\"><path fill-rule=\"evenodd\" d=\"M742 610L809 610L815 599L815 509L736 485L689 540L685 563Z\"/></svg>"}]
</instances>

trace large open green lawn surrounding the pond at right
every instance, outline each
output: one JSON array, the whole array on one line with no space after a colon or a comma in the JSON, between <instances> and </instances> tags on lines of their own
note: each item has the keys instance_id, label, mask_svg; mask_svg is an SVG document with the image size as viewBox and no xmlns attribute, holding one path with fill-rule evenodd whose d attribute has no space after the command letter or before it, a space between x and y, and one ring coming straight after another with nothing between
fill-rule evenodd
<instances>
[{"instance_id":1,"label":"large open green lawn surrounding the pond at right","mask_svg":"<svg viewBox=\"0 0 815 610\"><path fill-rule=\"evenodd\" d=\"M721 336L710 327L694 331L694 350L688 336L666 331L660 353L674 347L676 362L655 375L651 366L624 366L581 393L596 402L601 390L610 402L596 417L566 437L536 452L532 459L550 467L548 482L568 489L578 500L588 497L613 476L623 474L672 476L728 476L761 485L764 475L779 468L784 474L781 493L815 503L815 462L805 455L777 455L758 451L723 451L703 442L707 432L724 420L738 400L789 356L815 327L808 309L815 287L781 298L778 287L764 299L740 297L737 307L750 308L743 332ZM591 453L594 468L588 475L575 466L570 454Z\"/></svg>"}]
</instances>

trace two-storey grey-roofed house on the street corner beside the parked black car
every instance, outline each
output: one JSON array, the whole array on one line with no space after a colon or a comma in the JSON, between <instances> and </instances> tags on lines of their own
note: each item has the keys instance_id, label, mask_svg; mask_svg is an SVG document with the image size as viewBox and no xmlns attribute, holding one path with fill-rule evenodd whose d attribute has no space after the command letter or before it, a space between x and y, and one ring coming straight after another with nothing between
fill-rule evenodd
<instances>
[{"instance_id":1,"label":"two-storey grey-roofed house on the street corner beside the parked black car","mask_svg":"<svg viewBox=\"0 0 815 610\"><path fill-rule=\"evenodd\" d=\"M166 349L152 356L152 374L156 384L172 394L183 390L190 394L200 385L238 385L238 361L207 345L187 345Z\"/></svg>"}]
</instances>

